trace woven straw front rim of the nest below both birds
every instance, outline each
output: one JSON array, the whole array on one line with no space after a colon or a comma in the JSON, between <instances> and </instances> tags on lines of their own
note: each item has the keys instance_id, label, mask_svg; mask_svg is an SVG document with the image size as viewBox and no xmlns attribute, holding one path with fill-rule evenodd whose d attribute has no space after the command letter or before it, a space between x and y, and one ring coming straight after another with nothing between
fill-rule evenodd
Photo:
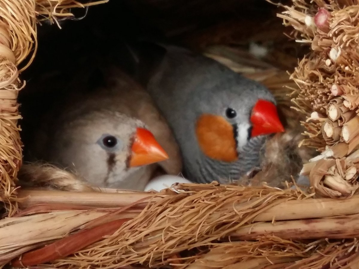
<instances>
[{"instance_id":1,"label":"woven straw front rim of the nest below both birds","mask_svg":"<svg viewBox=\"0 0 359 269\"><path fill-rule=\"evenodd\" d=\"M0 251L13 266L55 268L244 268L258 261L250 268L263 268L268 259L278 268L349 268L357 262L356 196L313 199L299 189L216 182L172 188L155 194L20 192L30 196L28 206L0 221L7 235ZM19 239L14 235L22 226L28 232Z\"/></svg>"}]
</instances>

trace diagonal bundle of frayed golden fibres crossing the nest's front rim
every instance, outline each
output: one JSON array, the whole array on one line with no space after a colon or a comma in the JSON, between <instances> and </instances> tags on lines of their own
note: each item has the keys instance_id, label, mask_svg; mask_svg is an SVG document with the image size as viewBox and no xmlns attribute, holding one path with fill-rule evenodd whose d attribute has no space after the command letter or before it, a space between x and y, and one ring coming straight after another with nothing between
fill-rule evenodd
<instances>
[{"instance_id":1,"label":"diagonal bundle of frayed golden fibres crossing the nest's front rim","mask_svg":"<svg viewBox=\"0 0 359 269\"><path fill-rule=\"evenodd\" d=\"M107 239L78 253L87 258L78 260L75 255L61 260L60 258L63 257L58 257L60 260L54 261L59 263L56 267L60 265L87 267L90 264L118 267L134 263L161 265L165 263L162 260L164 257L168 258L173 253L204 245L215 239L220 239L230 231L236 231L237 228L256 217L261 208L277 204L277 202L272 203L276 198L295 200L302 196L294 191L225 187L216 183L180 184L176 189L181 193L169 191L168 194L155 196L142 194L143 198L150 202L141 207L144 210L137 217L125 223L113 235L109 233L111 236ZM248 190L250 191L248 192ZM254 193L257 194L252 196ZM157 199L155 199L156 197ZM143 203L141 199L136 200L134 204L141 202ZM233 205L236 204L238 204L238 208L233 210ZM125 209L119 208L108 214L107 217L98 218L96 225L122 219L121 214ZM247 213L238 214L238 210ZM227 213L223 214L223 212ZM271 220L272 216L269 219ZM136 228L132 228L134 225ZM98 255L106 256L106 258L97 260L95 257ZM46 255L37 256L39 258L46 257ZM22 263L25 265L24 257L25 255L23 255ZM94 258L95 260L92 261ZM48 261L37 260L34 264L45 262Z\"/></svg>"}]
</instances>

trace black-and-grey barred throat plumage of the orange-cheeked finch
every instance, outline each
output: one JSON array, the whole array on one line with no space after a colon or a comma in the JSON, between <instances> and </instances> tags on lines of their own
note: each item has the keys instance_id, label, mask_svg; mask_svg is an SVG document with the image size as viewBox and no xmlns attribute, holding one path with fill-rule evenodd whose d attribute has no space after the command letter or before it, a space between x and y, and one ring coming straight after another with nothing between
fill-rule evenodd
<instances>
[{"instance_id":1,"label":"black-and-grey barred throat plumage of the orange-cheeked finch","mask_svg":"<svg viewBox=\"0 0 359 269\"><path fill-rule=\"evenodd\" d=\"M223 162L201 155L196 164L185 165L186 174L195 175L191 178L197 183L210 183L213 180L220 183L241 178L254 167L260 166L260 153L264 149L266 136L253 137L239 152L235 162Z\"/></svg>"}]
</instances>

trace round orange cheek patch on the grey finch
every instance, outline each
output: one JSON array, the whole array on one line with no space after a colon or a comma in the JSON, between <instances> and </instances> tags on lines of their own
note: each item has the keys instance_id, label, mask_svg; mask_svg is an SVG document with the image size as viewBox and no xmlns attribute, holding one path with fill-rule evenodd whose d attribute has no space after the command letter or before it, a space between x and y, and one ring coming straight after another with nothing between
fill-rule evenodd
<instances>
[{"instance_id":1,"label":"round orange cheek patch on the grey finch","mask_svg":"<svg viewBox=\"0 0 359 269\"><path fill-rule=\"evenodd\" d=\"M196 136L206 156L226 162L238 159L233 127L223 117L203 114L197 120Z\"/></svg>"}]
</instances>

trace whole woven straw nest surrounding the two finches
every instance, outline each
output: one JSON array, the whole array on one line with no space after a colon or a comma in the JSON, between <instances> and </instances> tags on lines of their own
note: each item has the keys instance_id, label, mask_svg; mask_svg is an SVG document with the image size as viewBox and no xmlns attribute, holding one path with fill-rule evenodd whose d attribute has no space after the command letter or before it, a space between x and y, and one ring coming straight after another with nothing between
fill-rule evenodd
<instances>
[{"instance_id":1,"label":"whole woven straw nest surrounding the two finches","mask_svg":"<svg viewBox=\"0 0 359 269\"><path fill-rule=\"evenodd\" d=\"M199 47L206 48L207 56L272 90L281 112L292 119L286 124L293 133L267 143L272 156L264 156L260 173L243 179L250 186L175 184L160 193L92 188L48 165L24 165L20 170L17 96L25 83L18 76L36 53L36 23L49 19L59 23L72 16L74 7L105 2L5 0L0 4L0 201L5 217L0 220L0 266L355 268L359 263L359 2L293 0L291 6L281 6L284 11L278 16L289 26L287 34L311 48L298 65L281 61L278 48L264 61L256 61L243 57L240 49L209 47L207 33L202 33L205 38ZM197 43L193 36L183 40L189 46ZM218 43L226 42L233 40ZM246 60L234 61L238 55ZM290 81L280 68L293 65ZM302 135L294 129L298 121ZM290 157L279 147L283 141L291 145L286 147ZM301 148L296 147L299 142ZM320 155L313 157L304 146ZM287 166L292 170L279 173ZM309 176L311 188L286 182L300 169Z\"/></svg>"}]
</instances>

